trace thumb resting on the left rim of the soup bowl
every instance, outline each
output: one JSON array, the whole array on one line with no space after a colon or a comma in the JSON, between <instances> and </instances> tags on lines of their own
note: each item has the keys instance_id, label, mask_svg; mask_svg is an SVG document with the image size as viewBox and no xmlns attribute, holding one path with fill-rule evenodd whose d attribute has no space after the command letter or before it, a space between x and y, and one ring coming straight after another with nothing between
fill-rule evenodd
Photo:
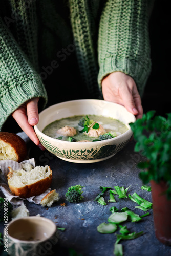
<instances>
[{"instance_id":1,"label":"thumb resting on the left rim of the soup bowl","mask_svg":"<svg viewBox=\"0 0 171 256\"><path fill-rule=\"evenodd\" d=\"M39 98L33 98L27 103L28 122L32 126L38 123L38 100Z\"/></svg>"}]
</instances>

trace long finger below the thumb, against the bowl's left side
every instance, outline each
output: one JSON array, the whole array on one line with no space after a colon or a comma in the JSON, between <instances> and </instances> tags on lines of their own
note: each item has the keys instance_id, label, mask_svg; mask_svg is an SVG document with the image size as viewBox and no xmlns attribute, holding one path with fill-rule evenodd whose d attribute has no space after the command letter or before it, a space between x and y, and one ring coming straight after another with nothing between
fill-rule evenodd
<instances>
[{"instance_id":1,"label":"long finger below the thumb, against the bowl's left side","mask_svg":"<svg viewBox=\"0 0 171 256\"><path fill-rule=\"evenodd\" d=\"M18 125L22 128L22 130L27 134L27 136L37 145L39 148L44 149L43 146L41 146L41 143L39 142L37 135L34 132L33 127L28 123L28 119L25 113L24 108L20 108L16 110L12 114L15 121L18 123Z\"/></svg>"}]
</instances>

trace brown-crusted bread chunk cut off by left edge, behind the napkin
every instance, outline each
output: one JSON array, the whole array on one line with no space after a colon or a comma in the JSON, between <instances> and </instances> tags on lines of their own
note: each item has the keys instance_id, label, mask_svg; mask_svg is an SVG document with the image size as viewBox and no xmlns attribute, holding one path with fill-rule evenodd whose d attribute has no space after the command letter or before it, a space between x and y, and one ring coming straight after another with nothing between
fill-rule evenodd
<instances>
[{"instance_id":1,"label":"brown-crusted bread chunk cut off by left edge, behind the napkin","mask_svg":"<svg viewBox=\"0 0 171 256\"><path fill-rule=\"evenodd\" d=\"M27 156L25 141L14 133L0 132L0 160L22 162Z\"/></svg>"}]
</instances>

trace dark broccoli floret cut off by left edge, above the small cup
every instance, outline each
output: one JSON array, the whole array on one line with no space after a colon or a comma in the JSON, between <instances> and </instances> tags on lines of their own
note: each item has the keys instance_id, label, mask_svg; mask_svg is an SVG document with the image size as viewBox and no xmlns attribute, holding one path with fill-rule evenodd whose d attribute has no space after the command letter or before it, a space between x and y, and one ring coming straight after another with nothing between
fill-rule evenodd
<instances>
[{"instance_id":1,"label":"dark broccoli floret cut off by left edge, above the small cup","mask_svg":"<svg viewBox=\"0 0 171 256\"><path fill-rule=\"evenodd\" d=\"M12 209L12 204L0 197L0 222L4 221L4 218L10 220Z\"/></svg>"}]
</instances>

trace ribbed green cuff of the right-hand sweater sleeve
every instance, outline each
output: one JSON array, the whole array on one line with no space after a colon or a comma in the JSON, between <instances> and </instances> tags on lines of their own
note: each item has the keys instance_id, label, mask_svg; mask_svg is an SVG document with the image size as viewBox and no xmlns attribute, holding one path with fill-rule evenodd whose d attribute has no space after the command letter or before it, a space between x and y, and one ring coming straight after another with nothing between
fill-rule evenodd
<instances>
[{"instance_id":1,"label":"ribbed green cuff of the right-hand sweater sleeve","mask_svg":"<svg viewBox=\"0 0 171 256\"><path fill-rule=\"evenodd\" d=\"M99 87L101 88L101 82L105 76L116 71L131 76L137 85L140 96L142 96L146 81L151 73L151 59L135 61L124 57L117 59L115 56L106 57L99 69Z\"/></svg>"}]
</instances>

